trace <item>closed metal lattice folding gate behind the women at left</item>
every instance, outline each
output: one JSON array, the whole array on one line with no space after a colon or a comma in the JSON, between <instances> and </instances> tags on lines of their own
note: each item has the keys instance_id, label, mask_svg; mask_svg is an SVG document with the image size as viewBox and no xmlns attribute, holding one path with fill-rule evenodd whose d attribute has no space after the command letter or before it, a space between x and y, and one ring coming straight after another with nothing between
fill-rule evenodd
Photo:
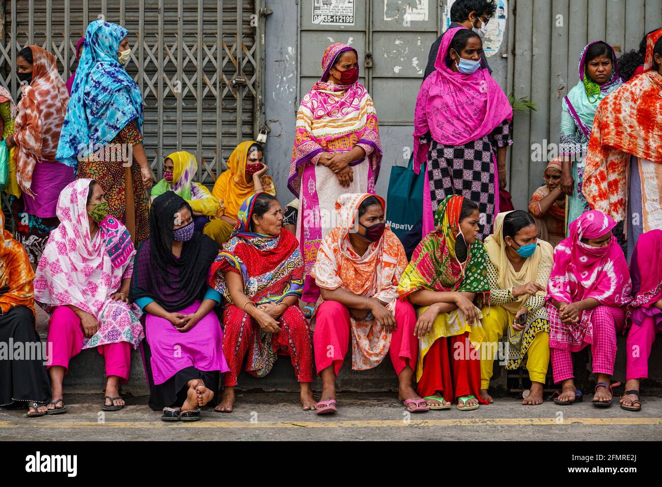
<instances>
[{"instance_id":1,"label":"closed metal lattice folding gate behind the women at left","mask_svg":"<svg viewBox=\"0 0 662 487\"><path fill-rule=\"evenodd\" d=\"M6 0L0 83L16 95L15 56L30 44L55 54L68 79L88 22L119 23L130 31L126 69L143 94L155 173L161 177L167 154L187 150L200 163L198 180L210 184L234 146L263 126L263 7L264 0Z\"/></svg>"}]
</instances>

